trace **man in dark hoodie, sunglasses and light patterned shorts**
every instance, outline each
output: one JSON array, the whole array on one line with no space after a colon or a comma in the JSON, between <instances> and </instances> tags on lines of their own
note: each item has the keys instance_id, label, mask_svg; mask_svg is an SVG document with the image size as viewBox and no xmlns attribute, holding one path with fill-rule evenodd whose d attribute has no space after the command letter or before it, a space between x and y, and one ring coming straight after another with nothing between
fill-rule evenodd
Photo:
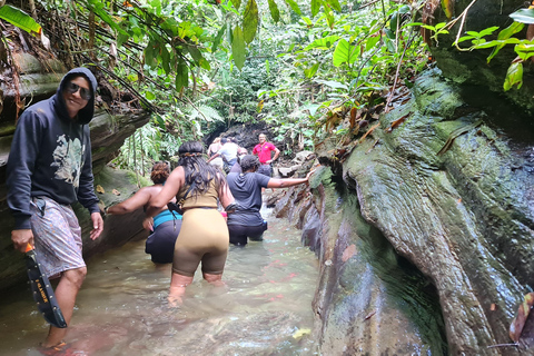
<instances>
[{"instance_id":1,"label":"man in dark hoodie, sunglasses and light patterned shorts","mask_svg":"<svg viewBox=\"0 0 534 356\"><path fill-rule=\"evenodd\" d=\"M23 253L28 244L34 246L47 277L59 278L56 298L68 325L87 274L81 228L70 205L79 201L91 214L91 239L103 229L89 135L96 89L91 71L76 68L63 77L56 95L26 109L17 123L7 167L14 248ZM60 350L66 334L66 328L50 326L41 346Z\"/></svg>"}]
</instances>

